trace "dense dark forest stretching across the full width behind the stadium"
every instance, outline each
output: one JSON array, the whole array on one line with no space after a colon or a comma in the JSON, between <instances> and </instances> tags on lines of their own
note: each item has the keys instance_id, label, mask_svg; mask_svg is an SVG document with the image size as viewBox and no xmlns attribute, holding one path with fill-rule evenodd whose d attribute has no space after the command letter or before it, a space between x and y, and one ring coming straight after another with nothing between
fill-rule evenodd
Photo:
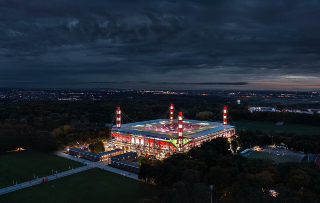
<instances>
[{"instance_id":1,"label":"dense dark forest stretching across the full width behind the stadium","mask_svg":"<svg viewBox=\"0 0 320 203\"><path fill-rule=\"evenodd\" d=\"M234 98L218 96L154 94L112 94L110 99L100 101L1 99L0 151L33 148L52 152L106 140L109 138L109 128L105 123L112 121L117 106L135 121L165 116L170 103L173 103L177 111L184 112L186 119L209 120L218 115L226 105L233 120L285 120L291 123L320 125L319 114L250 113L247 110L250 103L237 105L234 101Z\"/></svg>"}]
</instances>

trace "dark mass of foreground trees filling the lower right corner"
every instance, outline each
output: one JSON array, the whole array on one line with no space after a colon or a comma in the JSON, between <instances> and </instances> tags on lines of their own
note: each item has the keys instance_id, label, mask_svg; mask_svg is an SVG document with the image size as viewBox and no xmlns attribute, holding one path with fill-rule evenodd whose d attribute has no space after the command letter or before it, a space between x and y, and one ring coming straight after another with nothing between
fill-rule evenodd
<instances>
[{"instance_id":1,"label":"dark mass of foreground trees filling the lower right corner","mask_svg":"<svg viewBox=\"0 0 320 203\"><path fill-rule=\"evenodd\" d=\"M163 190L139 202L210 202L212 184L226 203L320 201L320 169L314 163L275 164L268 158L231 155L228 149L227 139L217 138L162 161L143 159L139 178ZM278 196L273 198L269 190Z\"/></svg>"}]
</instances>

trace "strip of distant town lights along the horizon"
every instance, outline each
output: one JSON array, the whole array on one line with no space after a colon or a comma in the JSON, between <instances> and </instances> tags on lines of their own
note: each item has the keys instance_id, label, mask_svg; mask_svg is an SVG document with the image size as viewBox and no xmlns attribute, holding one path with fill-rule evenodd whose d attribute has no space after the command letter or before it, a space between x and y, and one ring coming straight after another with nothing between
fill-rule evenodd
<instances>
[{"instance_id":1,"label":"strip of distant town lights along the horizon","mask_svg":"<svg viewBox=\"0 0 320 203\"><path fill-rule=\"evenodd\" d=\"M229 91L229 90L122 90L122 89L93 89L93 90L56 90L56 89L1 89L0 98L12 100L101 100L108 99L110 94L172 94L172 95L203 95L233 97L239 99L260 99L269 103L274 99L293 99L303 102L320 102L320 91ZM130 97L128 98L130 99Z\"/></svg>"}]
</instances>

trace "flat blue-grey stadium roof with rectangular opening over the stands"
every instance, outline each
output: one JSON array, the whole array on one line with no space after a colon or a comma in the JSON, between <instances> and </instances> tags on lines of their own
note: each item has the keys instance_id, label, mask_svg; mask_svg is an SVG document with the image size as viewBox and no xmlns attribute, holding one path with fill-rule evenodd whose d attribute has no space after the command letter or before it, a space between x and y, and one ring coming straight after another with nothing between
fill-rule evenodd
<instances>
[{"instance_id":1,"label":"flat blue-grey stadium roof with rectangular opening over the stands","mask_svg":"<svg viewBox=\"0 0 320 203\"><path fill-rule=\"evenodd\" d=\"M177 123L178 120L173 120L173 123ZM184 126L187 124L190 126L189 130L183 131L183 137L189 139L199 138L214 132L219 132L231 127L235 127L233 125L223 125L218 122L208 122L208 121L197 121L197 120L183 120ZM129 132L140 135L147 135L158 138L168 138L172 139L177 136L177 131L159 131L157 128L163 128L170 125L169 119L157 119L150 121L142 121L130 124L122 124L121 128L113 128L112 131L118 132ZM192 128L195 127L195 128ZM150 128L154 128L154 130L150 130Z\"/></svg>"}]
</instances>

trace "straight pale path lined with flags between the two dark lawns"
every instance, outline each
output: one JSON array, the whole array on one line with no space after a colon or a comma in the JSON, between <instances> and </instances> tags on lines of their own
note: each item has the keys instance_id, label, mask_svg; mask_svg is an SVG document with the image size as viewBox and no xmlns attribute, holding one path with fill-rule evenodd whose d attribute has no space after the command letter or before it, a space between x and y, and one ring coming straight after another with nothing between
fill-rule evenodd
<instances>
[{"instance_id":1,"label":"straight pale path lined with flags between the two dark lawns","mask_svg":"<svg viewBox=\"0 0 320 203\"><path fill-rule=\"evenodd\" d=\"M60 178L60 177L68 176L68 175L71 175L71 174L74 174L74 173L78 173L78 172L81 172L81 171L85 171L85 170L88 170L88 169L92 169L92 168L93 168L93 166L91 166L91 167L90 166L85 166L85 167L80 167L80 168L76 168L76 169L67 170L67 171L64 171L64 172L61 172L61 173L57 173L57 174L46 176L46 177L42 177L42 178L48 178L48 181L50 181L50 180L54 180L54 179L57 179L57 178ZM0 189L0 195L8 193L8 192L12 192L12 191L20 190L22 188L30 187L30 186L33 186L33 185L36 185L36 184L41 184L42 178L39 178L38 180L32 180L32 181L24 182L24 183L21 183L21 184L13 185L13 186L10 186L10 187L2 188L2 189Z\"/></svg>"}]
</instances>

